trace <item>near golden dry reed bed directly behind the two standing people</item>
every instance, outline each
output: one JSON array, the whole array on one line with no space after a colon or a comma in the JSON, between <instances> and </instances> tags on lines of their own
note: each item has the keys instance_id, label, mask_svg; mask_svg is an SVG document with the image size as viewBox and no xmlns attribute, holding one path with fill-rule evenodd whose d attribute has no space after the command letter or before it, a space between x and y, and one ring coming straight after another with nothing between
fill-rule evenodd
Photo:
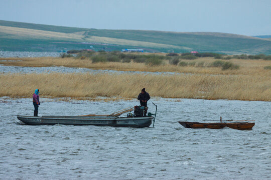
<instances>
[{"instance_id":1,"label":"near golden dry reed bed directly behind the two standing people","mask_svg":"<svg viewBox=\"0 0 271 180\"><path fill-rule=\"evenodd\" d=\"M142 87L167 98L271 100L271 76L262 75L0 74L0 96L31 97L39 88L43 97L136 98Z\"/></svg>"}]
</instances>

